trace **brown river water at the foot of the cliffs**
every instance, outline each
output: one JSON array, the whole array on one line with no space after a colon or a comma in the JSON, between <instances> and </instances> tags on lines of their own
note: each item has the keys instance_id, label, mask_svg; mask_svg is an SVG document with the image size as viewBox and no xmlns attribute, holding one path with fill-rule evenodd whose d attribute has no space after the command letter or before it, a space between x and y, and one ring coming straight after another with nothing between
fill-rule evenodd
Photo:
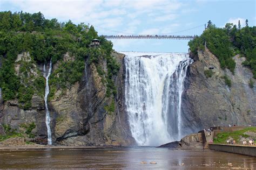
<instances>
[{"instance_id":1,"label":"brown river water at the foot of the cliffs","mask_svg":"<svg viewBox=\"0 0 256 170\"><path fill-rule=\"evenodd\" d=\"M147 164L140 164L147 161ZM157 164L150 164L156 161ZM0 168L256 169L256 158L168 148L73 148L0 150Z\"/></svg>"}]
</instances>

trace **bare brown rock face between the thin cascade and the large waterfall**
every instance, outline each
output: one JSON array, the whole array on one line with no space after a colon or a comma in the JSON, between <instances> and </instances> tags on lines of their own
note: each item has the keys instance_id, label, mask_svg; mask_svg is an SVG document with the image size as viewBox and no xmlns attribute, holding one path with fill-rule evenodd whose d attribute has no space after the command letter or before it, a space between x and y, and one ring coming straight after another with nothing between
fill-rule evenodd
<instances>
[{"instance_id":1,"label":"bare brown rock face between the thin cascade and the large waterfall","mask_svg":"<svg viewBox=\"0 0 256 170\"><path fill-rule=\"evenodd\" d=\"M106 87L94 64L85 66L82 81L65 95L55 96L49 102L52 116L52 133L57 144L61 145L135 145L124 112L124 65L123 54L112 54L120 64L114 83L117 95L106 98ZM106 71L106 61L100 62ZM60 92L57 94L60 94ZM114 112L105 107L114 100Z\"/></svg>"}]
</instances>

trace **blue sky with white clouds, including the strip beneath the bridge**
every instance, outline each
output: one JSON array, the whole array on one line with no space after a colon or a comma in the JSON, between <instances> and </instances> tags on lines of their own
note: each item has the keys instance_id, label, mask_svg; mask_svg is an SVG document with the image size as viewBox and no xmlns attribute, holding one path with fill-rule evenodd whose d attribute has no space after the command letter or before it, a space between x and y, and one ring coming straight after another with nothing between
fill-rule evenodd
<instances>
[{"instance_id":1,"label":"blue sky with white clouds, including the strip beneath the bridge","mask_svg":"<svg viewBox=\"0 0 256 170\"><path fill-rule=\"evenodd\" d=\"M0 11L42 12L47 19L93 25L99 35L171 34L200 35L211 20L218 27L226 23L256 24L254 0L0 0ZM188 40L111 40L116 51L187 52Z\"/></svg>"}]
</instances>

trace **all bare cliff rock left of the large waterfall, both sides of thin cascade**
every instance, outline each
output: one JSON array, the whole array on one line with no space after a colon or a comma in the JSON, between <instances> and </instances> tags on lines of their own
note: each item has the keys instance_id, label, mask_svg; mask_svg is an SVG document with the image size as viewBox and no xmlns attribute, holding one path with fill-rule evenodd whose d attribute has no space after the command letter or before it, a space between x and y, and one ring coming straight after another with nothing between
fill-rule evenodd
<instances>
[{"instance_id":1,"label":"all bare cliff rock left of the large waterfall, both sides of thin cascade","mask_svg":"<svg viewBox=\"0 0 256 170\"><path fill-rule=\"evenodd\" d=\"M51 131L53 143L60 145L135 145L131 137L127 115L124 111L124 78L125 68L123 54L113 53L120 64L117 76L113 77L117 87L115 97L106 97L106 86L98 74L94 64L88 65L85 61L85 70L82 80L71 88L56 91L54 98L48 102L51 117ZM64 56L69 59L69 55ZM106 71L106 61L100 61ZM58 62L52 72L57 69ZM42 70L42 66L37 66ZM106 107L114 102L114 111L107 111ZM0 123L8 124L12 129L19 130L24 123L36 124L33 133L37 143L47 143L45 125L45 110L43 97L32 97L32 108L24 110L18 107L17 101L8 101L1 104ZM3 133L3 126L0 126Z\"/></svg>"}]
</instances>

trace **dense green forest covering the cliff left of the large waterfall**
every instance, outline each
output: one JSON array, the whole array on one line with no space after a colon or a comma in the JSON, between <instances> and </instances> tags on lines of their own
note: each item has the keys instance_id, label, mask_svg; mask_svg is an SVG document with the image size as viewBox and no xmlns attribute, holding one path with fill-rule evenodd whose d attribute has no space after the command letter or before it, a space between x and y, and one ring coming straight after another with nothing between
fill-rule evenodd
<instances>
[{"instance_id":1,"label":"dense green forest covering the cliff left of the large waterfall","mask_svg":"<svg viewBox=\"0 0 256 170\"><path fill-rule=\"evenodd\" d=\"M89 48L92 39L100 40L100 48ZM112 42L98 36L93 26L71 20L60 23L57 19L45 19L41 12L26 13L10 11L0 12L0 87L4 101L17 98L19 107L29 109L34 94L43 97L45 80L42 74L31 73L36 65L58 63L58 68L49 79L50 95L57 89L71 87L82 77L85 60L95 63L97 72L104 75L107 96L114 95L112 76L117 73L119 65L110 55ZM17 60L18 54L29 52L29 60ZM66 53L74 56L70 61L63 60ZM107 61L107 73L98 65L98 59ZM0 61L1 61L0 60ZM19 65L19 74L15 69ZM39 70L35 70L39 73ZM37 76L35 76L37 75Z\"/></svg>"}]
</instances>

